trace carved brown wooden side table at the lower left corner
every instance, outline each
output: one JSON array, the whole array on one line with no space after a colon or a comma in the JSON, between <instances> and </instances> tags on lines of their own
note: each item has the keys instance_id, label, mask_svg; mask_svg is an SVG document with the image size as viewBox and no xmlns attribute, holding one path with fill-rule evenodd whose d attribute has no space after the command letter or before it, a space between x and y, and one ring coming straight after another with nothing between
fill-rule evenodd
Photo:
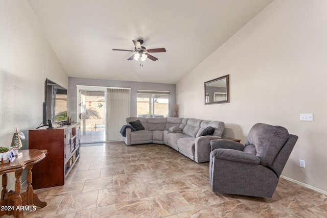
<instances>
[{"instance_id":1,"label":"carved brown wooden side table at the lower left corner","mask_svg":"<svg viewBox=\"0 0 327 218\"><path fill-rule=\"evenodd\" d=\"M38 207L45 207L46 202L42 202L37 197L36 193L33 192L32 188L32 168L33 165L45 158L46 150L22 150L20 151L22 156L16 157L13 162L8 162L0 165L0 175L2 175L2 191L0 200L0 216L5 214L14 215L14 217L24 217L25 205L35 205ZM23 169L27 168L27 189L25 192L20 190L20 177ZM8 184L8 173L15 173L15 191L7 190Z\"/></svg>"}]
</instances>

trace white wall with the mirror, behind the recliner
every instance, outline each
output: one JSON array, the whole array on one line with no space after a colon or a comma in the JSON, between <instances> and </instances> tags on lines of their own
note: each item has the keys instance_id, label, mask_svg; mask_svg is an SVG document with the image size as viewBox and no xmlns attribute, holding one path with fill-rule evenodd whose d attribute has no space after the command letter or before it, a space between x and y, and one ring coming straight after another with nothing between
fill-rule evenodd
<instances>
[{"instance_id":1,"label":"white wall with the mirror, behind the recliner","mask_svg":"<svg viewBox=\"0 0 327 218\"><path fill-rule=\"evenodd\" d=\"M274 0L177 84L180 116L222 120L227 137L244 143L259 122L298 135L283 175L324 191L326 8L324 0ZM227 74L230 103L204 105L203 83ZM313 113L314 122L300 122L300 113Z\"/></svg>"}]
</instances>

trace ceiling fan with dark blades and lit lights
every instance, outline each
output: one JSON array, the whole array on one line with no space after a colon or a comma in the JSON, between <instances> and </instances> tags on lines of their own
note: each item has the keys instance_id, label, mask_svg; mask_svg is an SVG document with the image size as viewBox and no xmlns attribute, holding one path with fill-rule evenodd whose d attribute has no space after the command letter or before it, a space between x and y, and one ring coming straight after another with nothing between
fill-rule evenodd
<instances>
[{"instance_id":1,"label":"ceiling fan with dark blades and lit lights","mask_svg":"<svg viewBox=\"0 0 327 218\"><path fill-rule=\"evenodd\" d=\"M132 40L135 49L134 50L124 50L124 49L112 49L113 51L125 51L125 52L133 52L134 54L127 60L136 60L138 61L141 58L141 61L145 61L147 58L149 58L152 61L158 60L156 57L150 55L149 53L156 53L156 52L166 52L166 49L164 47L160 49L146 49L144 46L141 46L143 44L142 39L138 39L137 41Z\"/></svg>"}]
</instances>

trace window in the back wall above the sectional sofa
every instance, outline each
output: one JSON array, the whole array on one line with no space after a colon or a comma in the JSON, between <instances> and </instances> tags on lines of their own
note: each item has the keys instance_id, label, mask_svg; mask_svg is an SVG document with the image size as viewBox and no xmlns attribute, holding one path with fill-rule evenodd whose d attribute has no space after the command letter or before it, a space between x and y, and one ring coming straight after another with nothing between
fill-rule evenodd
<instances>
[{"instance_id":1,"label":"window in the back wall above the sectional sofa","mask_svg":"<svg viewBox=\"0 0 327 218\"><path fill-rule=\"evenodd\" d=\"M137 90L137 116L168 117L169 92Z\"/></svg>"}]
</instances>

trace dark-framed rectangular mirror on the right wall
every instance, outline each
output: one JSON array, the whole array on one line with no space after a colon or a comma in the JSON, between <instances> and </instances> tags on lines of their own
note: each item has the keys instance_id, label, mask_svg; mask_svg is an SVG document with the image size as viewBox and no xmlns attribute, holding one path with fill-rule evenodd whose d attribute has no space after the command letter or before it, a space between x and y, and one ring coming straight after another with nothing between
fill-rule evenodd
<instances>
[{"instance_id":1,"label":"dark-framed rectangular mirror on the right wall","mask_svg":"<svg viewBox=\"0 0 327 218\"><path fill-rule=\"evenodd\" d=\"M229 75L204 83L204 104L229 103Z\"/></svg>"}]
</instances>

